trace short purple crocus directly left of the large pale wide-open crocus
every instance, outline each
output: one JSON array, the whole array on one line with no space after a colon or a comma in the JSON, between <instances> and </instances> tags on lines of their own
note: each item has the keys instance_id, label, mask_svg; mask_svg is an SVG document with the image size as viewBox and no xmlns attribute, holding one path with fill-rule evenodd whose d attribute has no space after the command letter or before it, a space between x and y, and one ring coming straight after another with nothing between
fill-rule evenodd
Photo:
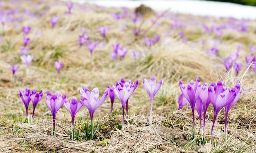
<instances>
[{"instance_id":1,"label":"short purple crocus directly left of the large pale wide-open crocus","mask_svg":"<svg viewBox=\"0 0 256 153\"><path fill-rule=\"evenodd\" d=\"M72 118L72 126L71 126L71 131L72 131L72 138L74 139L74 119L76 117L76 113L83 107L83 102L79 101L77 103L77 99L75 96L72 96L70 99L70 103L66 101L63 103L64 106L67 108L67 110L70 112L71 118Z\"/></svg>"}]
</instances>

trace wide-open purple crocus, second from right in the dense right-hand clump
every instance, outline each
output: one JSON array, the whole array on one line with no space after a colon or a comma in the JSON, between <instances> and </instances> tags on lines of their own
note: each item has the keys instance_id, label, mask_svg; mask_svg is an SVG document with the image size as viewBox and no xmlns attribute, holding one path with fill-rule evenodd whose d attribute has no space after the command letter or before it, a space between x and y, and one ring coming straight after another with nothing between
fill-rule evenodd
<instances>
[{"instance_id":1,"label":"wide-open purple crocus, second from right in the dense right-hand clump","mask_svg":"<svg viewBox=\"0 0 256 153\"><path fill-rule=\"evenodd\" d=\"M211 127L210 133L212 134L214 123L218 113L223 107L229 105L232 101L234 101L234 98L236 96L236 88L233 88L231 90L230 87L223 87L222 82L218 81L217 84L214 83L213 85L210 85L208 87L208 96L209 101L211 101L214 108L213 125Z\"/></svg>"}]
</instances>

